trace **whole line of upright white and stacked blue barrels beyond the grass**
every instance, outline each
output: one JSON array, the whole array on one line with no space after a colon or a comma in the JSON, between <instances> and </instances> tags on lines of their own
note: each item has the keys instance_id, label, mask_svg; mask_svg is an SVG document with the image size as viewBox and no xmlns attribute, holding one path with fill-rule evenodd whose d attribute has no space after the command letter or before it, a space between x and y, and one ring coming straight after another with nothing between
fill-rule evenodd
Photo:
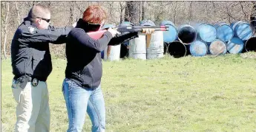
<instances>
[{"instance_id":1,"label":"whole line of upright white and stacked blue barrels beyond the grass","mask_svg":"<svg viewBox=\"0 0 256 132\"><path fill-rule=\"evenodd\" d=\"M120 26L133 26L128 21ZM156 26L153 21L145 20L140 26ZM241 52L256 52L255 27L245 21L234 21L232 24L183 24L176 27L171 21L162 21L160 26L167 26L168 31L156 31L149 38L143 33L124 44L108 46L102 52L104 60L119 58L154 59L169 54L174 58L186 55L225 55ZM113 25L105 25L113 27Z\"/></svg>"}]
</instances>

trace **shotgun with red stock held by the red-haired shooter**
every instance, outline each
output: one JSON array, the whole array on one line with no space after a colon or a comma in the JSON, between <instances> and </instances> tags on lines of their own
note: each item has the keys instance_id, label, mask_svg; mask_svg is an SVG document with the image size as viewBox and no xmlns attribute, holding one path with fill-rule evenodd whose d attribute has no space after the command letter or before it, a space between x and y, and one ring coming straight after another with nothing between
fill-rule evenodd
<instances>
[{"instance_id":1,"label":"shotgun with red stock held by the red-haired shooter","mask_svg":"<svg viewBox=\"0 0 256 132\"><path fill-rule=\"evenodd\" d=\"M145 29L153 29L154 31L168 31L167 26L120 26L114 27L118 32L142 32L145 33ZM102 29L96 32L87 32L87 34L93 39L99 39L107 32L107 29Z\"/></svg>"}]
</instances>

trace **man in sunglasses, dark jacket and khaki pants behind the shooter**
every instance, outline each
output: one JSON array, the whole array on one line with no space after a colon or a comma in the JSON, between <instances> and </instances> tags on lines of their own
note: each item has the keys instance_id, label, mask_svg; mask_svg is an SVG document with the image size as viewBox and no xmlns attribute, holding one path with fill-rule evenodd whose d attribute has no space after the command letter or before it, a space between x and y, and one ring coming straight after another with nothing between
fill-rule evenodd
<instances>
[{"instance_id":1,"label":"man in sunglasses, dark jacket and khaki pants behind the shooter","mask_svg":"<svg viewBox=\"0 0 256 132\"><path fill-rule=\"evenodd\" d=\"M50 10L34 5L19 25L11 44L16 127L20 132L50 131L46 80L52 71L49 43L63 44L73 28L49 26Z\"/></svg>"}]
</instances>

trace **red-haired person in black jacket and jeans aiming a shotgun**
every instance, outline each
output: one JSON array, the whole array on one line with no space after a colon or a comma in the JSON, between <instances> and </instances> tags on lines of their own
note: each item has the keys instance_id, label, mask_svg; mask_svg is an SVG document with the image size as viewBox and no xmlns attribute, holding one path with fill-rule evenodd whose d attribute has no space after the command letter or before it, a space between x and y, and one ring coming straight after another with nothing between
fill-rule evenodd
<instances>
[{"instance_id":1,"label":"red-haired person in black jacket and jeans aiming a shotgun","mask_svg":"<svg viewBox=\"0 0 256 132\"><path fill-rule=\"evenodd\" d=\"M119 35L109 28L102 38L93 39L87 33L99 31L107 13L98 5L89 6L67 37L67 67L62 92L68 111L68 132L82 131L86 111L91 118L91 131L105 131L105 102L100 86L102 78L101 52L108 45L122 44L138 37L138 32Z\"/></svg>"}]
</instances>

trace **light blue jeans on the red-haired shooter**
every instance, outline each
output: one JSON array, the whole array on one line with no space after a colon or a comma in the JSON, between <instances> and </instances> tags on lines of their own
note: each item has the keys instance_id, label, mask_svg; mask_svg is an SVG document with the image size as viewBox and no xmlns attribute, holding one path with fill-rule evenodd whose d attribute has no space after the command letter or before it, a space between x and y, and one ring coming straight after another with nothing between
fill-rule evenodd
<instances>
[{"instance_id":1,"label":"light blue jeans on the red-haired shooter","mask_svg":"<svg viewBox=\"0 0 256 132\"><path fill-rule=\"evenodd\" d=\"M63 81L62 92L68 110L67 132L82 131L86 111L93 125L91 131L105 131L105 103L100 86L98 88L82 88L66 78Z\"/></svg>"}]
</instances>

